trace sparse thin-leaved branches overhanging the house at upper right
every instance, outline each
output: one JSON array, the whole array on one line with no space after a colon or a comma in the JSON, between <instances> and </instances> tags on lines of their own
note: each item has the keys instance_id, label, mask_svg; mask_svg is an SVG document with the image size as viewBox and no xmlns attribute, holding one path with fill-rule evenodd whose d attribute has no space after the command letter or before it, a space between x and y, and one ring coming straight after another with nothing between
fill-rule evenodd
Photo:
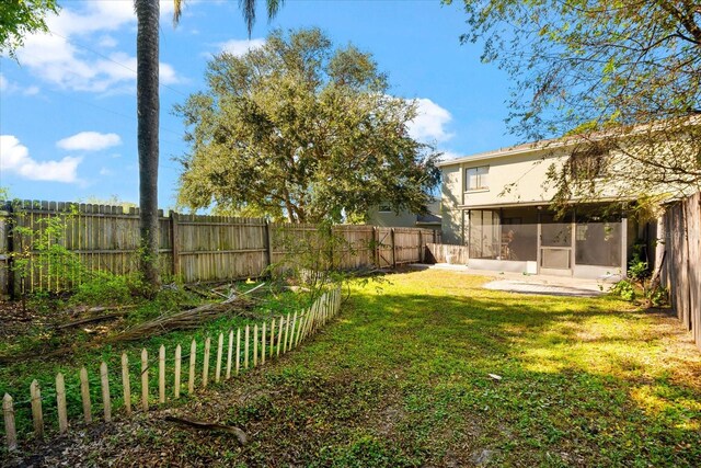
<instances>
[{"instance_id":1,"label":"sparse thin-leaved branches overhanging the house at upper right","mask_svg":"<svg viewBox=\"0 0 701 468\"><path fill-rule=\"evenodd\" d=\"M698 2L464 0L463 7L469 31L461 41L483 42L483 61L514 79L513 132L529 140L576 134L582 146L606 146L599 153L616 153L617 163L604 174L625 196L663 185L700 187ZM571 196L576 171L567 165L552 176Z\"/></svg>"}]
</instances>

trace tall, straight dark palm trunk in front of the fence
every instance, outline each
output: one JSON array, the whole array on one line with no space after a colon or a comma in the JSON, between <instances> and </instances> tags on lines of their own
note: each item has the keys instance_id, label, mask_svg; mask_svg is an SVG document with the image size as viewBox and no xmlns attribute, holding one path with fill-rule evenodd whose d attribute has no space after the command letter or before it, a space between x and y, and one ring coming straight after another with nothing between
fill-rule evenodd
<instances>
[{"instance_id":1,"label":"tall, straight dark palm trunk in front of the fence","mask_svg":"<svg viewBox=\"0 0 701 468\"><path fill-rule=\"evenodd\" d=\"M139 267L147 286L160 285L158 271L158 157L159 157L159 1L135 0L138 21L137 126L139 150Z\"/></svg>"}]
</instances>

